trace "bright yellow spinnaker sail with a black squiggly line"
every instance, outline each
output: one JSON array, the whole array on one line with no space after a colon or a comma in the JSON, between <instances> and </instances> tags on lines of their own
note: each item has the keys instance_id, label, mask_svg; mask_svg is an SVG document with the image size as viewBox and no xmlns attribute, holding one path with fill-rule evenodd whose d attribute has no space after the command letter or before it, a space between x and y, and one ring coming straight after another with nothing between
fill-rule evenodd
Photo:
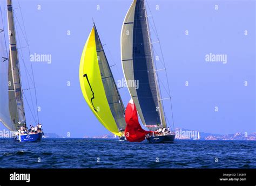
<instances>
[{"instance_id":1,"label":"bright yellow spinnaker sail with a black squiggly line","mask_svg":"<svg viewBox=\"0 0 256 186\"><path fill-rule=\"evenodd\" d=\"M81 56L79 80L85 101L97 119L107 128L107 130L113 134L121 136L122 133L118 131L116 121L113 118L109 103L107 102L100 75L94 26L86 41Z\"/></svg>"}]
</instances>

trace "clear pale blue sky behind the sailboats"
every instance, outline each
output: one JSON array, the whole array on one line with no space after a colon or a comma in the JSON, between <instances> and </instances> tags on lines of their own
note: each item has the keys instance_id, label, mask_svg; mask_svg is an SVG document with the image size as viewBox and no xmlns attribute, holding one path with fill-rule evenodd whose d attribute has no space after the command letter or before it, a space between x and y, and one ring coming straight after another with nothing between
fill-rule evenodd
<instances>
[{"instance_id":1,"label":"clear pale blue sky behind the sailboats","mask_svg":"<svg viewBox=\"0 0 256 186\"><path fill-rule=\"evenodd\" d=\"M0 2L6 30L6 2ZM18 47L26 66L30 67L30 54L51 56L51 62L32 62L39 121L45 133L73 138L109 134L80 90L80 56L93 18L110 66L115 65L111 70L116 82L124 78L120 32L131 3L23 0L18 4L13 0ZM217 134L256 132L255 10L255 1L147 1L154 55L160 54L160 46L153 25L163 52L156 65L166 68L171 89L174 127ZM214 62L215 54L223 59ZM21 65L23 89L29 85L24 71ZM165 70L158 75L166 84ZM126 105L129 92L127 88L119 91ZM165 105L165 114L171 118L170 104ZM27 122L33 124L26 103L25 110Z\"/></svg>"}]
</instances>

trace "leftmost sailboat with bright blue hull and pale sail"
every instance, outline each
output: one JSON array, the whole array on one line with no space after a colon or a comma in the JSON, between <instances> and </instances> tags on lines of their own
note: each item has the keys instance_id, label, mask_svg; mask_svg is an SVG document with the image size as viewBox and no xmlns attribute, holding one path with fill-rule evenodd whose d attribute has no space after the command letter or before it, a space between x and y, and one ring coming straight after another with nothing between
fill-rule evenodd
<instances>
[{"instance_id":1,"label":"leftmost sailboat with bright blue hull and pale sail","mask_svg":"<svg viewBox=\"0 0 256 186\"><path fill-rule=\"evenodd\" d=\"M0 63L0 121L10 131L17 133L19 127L26 128L26 117L12 10L11 0L7 0L9 56L5 51L4 29L2 28L0 33L0 52L2 56ZM37 142L41 141L42 136L42 131L31 134L18 133L15 135L14 141Z\"/></svg>"}]
</instances>

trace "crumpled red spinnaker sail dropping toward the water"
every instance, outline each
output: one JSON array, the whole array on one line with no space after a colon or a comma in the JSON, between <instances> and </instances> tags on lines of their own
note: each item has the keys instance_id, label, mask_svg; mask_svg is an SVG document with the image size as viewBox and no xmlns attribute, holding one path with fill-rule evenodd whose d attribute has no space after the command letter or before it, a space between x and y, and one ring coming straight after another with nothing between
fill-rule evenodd
<instances>
[{"instance_id":1,"label":"crumpled red spinnaker sail dropping toward the water","mask_svg":"<svg viewBox=\"0 0 256 186\"><path fill-rule=\"evenodd\" d=\"M145 135L151 133L151 131L145 131L139 124L138 114L136 106L132 99L126 106L125 110L125 137L131 142L140 142L145 140Z\"/></svg>"}]
</instances>

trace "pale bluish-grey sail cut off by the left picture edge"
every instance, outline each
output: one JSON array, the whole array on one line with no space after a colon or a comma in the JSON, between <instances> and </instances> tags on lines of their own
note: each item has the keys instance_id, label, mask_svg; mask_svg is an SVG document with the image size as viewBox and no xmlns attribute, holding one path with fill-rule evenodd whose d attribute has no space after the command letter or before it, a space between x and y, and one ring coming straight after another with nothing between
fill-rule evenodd
<instances>
[{"instance_id":1,"label":"pale bluish-grey sail cut off by the left picture edge","mask_svg":"<svg viewBox=\"0 0 256 186\"><path fill-rule=\"evenodd\" d=\"M0 16L2 16L0 6ZM9 113L9 96L8 96L8 56L5 51L5 37L3 30L2 18L0 19L0 121L9 130L15 130L11 122Z\"/></svg>"}]
</instances>

